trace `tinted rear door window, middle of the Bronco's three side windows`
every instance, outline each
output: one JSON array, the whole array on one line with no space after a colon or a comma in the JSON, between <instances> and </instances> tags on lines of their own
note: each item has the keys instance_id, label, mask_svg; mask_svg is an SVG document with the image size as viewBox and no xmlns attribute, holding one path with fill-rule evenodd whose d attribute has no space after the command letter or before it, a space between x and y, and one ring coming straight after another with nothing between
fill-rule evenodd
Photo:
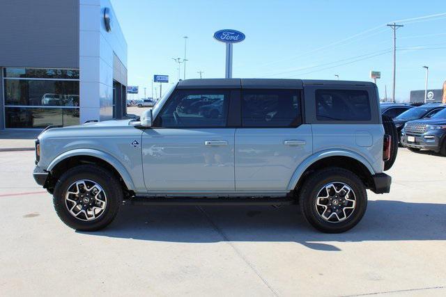
<instances>
[{"instance_id":1,"label":"tinted rear door window, middle of the Bronco's three side windows","mask_svg":"<svg viewBox=\"0 0 446 297\"><path fill-rule=\"evenodd\" d=\"M242 127L298 127L299 90L242 90Z\"/></svg>"}]
</instances>

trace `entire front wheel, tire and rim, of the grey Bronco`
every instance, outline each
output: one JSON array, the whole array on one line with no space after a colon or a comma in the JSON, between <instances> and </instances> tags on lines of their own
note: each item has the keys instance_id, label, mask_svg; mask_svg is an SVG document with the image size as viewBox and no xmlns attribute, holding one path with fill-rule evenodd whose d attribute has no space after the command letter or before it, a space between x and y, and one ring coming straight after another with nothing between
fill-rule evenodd
<instances>
[{"instance_id":1,"label":"entire front wheel, tire and rim, of the grey Bronco","mask_svg":"<svg viewBox=\"0 0 446 297\"><path fill-rule=\"evenodd\" d=\"M81 165L65 172L54 187L53 202L63 223L79 231L100 230L118 213L123 191L103 168Z\"/></svg>"}]
</instances>

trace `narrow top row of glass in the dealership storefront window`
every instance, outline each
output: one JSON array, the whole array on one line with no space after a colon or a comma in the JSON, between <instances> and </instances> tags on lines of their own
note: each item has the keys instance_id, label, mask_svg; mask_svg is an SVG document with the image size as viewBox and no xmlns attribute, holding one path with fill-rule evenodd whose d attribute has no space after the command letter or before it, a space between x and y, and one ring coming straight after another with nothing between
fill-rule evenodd
<instances>
[{"instance_id":1,"label":"narrow top row of glass in the dealership storefront window","mask_svg":"<svg viewBox=\"0 0 446 297\"><path fill-rule=\"evenodd\" d=\"M8 67L4 70L4 76L22 79L79 79L79 70Z\"/></svg>"}]
</instances>

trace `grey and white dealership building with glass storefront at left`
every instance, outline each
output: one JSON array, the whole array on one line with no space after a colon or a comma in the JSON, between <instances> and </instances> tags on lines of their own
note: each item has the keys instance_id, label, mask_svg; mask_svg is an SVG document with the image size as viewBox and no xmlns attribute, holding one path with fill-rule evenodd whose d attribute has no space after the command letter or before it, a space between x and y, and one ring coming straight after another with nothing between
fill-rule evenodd
<instances>
[{"instance_id":1,"label":"grey and white dealership building with glass storefront at left","mask_svg":"<svg viewBox=\"0 0 446 297\"><path fill-rule=\"evenodd\" d=\"M126 116L127 43L109 0L1 0L0 45L0 129Z\"/></svg>"}]
</instances>

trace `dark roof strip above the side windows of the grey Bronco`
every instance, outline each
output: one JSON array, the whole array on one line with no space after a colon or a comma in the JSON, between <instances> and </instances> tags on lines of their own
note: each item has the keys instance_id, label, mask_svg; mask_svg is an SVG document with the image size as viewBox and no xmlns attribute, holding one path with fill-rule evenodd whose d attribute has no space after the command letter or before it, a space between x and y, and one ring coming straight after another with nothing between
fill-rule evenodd
<instances>
[{"instance_id":1,"label":"dark roof strip above the side windows of the grey Bronco","mask_svg":"<svg viewBox=\"0 0 446 297\"><path fill-rule=\"evenodd\" d=\"M370 81L332 81L314 79L185 79L177 88L298 88L312 85L375 86Z\"/></svg>"}]
</instances>

